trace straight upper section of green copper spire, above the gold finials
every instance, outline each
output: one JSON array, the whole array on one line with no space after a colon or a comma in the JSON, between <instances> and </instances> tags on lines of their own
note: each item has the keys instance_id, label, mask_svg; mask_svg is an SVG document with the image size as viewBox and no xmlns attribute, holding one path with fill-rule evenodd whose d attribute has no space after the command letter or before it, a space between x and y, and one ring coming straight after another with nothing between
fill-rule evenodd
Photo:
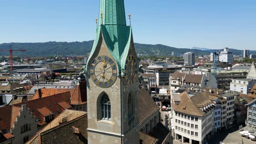
<instances>
[{"instance_id":1,"label":"straight upper section of green copper spire, above the gold finials","mask_svg":"<svg viewBox=\"0 0 256 144\"><path fill-rule=\"evenodd\" d=\"M100 0L99 25L101 24L126 26L124 0Z\"/></svg>"}]
</instances>

